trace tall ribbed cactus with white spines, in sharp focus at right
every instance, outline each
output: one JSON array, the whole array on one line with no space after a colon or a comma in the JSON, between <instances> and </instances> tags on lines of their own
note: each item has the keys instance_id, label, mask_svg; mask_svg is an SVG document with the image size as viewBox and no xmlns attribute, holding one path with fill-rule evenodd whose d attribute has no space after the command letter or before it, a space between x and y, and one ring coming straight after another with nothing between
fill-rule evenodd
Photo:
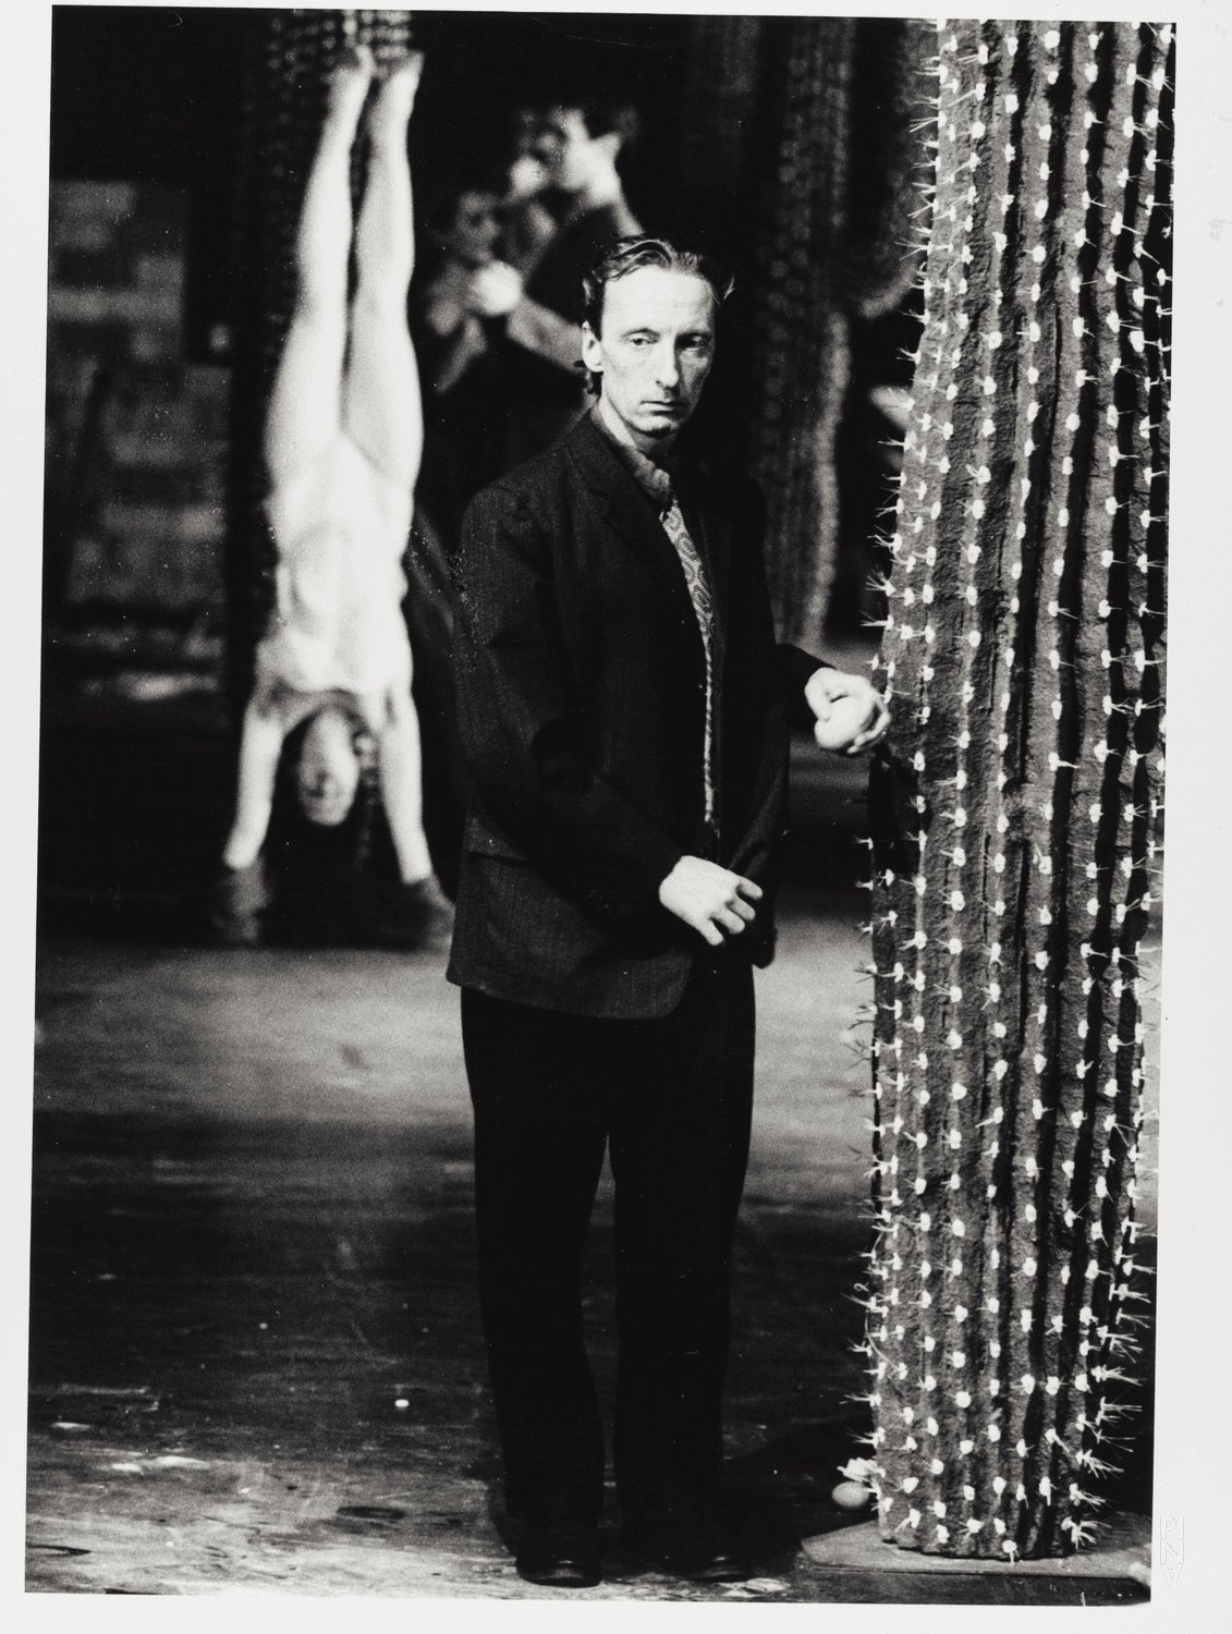
<instances>
[{"instance_id":1,"label":"tall ribbed cactus with white spines, in sharp focus at right","mask_svg":"<svg viewBox=\"0 0 1232 1634\"><path fill-rule=\"evenodd\" d=\"M962 21L933 64L868 1301L881 1531L930 1554L1088 1542L1132 1366L1172 51L1147 25Z\"/></svg>"}]
</instances>

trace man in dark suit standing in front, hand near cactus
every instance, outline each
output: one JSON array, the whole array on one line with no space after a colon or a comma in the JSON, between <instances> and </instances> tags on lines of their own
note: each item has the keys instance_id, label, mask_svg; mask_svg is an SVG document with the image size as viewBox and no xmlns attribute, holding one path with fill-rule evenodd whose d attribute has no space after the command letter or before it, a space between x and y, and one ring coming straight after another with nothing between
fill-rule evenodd
<instances>
[{"instance_id":1,"label":"man in dark suit standing in front, hand near cactus","mask_svg":"<svg viewBox=\"0 0 1232 1634\"><path fill-rule=\"evenodd\" d=\"M600 1578L580 1255L605 1145L626 1544L747 1575L719 1531L721 1397L789 721L845 752L887 721L863 676L776 647L760 495L676 441L724 294L699 258L621 240L583 284L595 408L462 529L449 979L507 1503L541 1583Z\"/></svg>"}]
</instances>

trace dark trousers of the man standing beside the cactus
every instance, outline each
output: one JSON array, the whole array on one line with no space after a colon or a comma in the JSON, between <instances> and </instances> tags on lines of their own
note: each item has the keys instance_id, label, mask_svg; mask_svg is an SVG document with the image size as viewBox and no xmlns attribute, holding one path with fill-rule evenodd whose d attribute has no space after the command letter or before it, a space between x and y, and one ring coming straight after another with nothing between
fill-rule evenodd
<instances>
[{"instance_id":1,"label":"dark trousers of the man standing beside the cactus","mask_svg":"<svg viewBox=\"0 0 1232 1634\"><path fill-rule=\"evenodd\" d=\"M680 1007L618 1021L462 990L480 1301L510 1513L590 1525L603 1426L582 1245L611 1142L614 1467L626 1525L716 1518L732 1235L753 1106L753 972L703 958Z\"/></svg>"}]
</instances>

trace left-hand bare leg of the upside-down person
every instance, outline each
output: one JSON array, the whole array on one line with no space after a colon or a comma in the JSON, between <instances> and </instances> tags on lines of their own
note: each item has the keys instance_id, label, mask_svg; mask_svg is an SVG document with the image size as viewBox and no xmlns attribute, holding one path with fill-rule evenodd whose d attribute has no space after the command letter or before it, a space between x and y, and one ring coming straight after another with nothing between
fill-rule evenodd
<instances>
[{"instance_id":1,"label":"left-hand bare leg of the upside-down person","mask_svg":"<svg viewBox=\"0 0 1232 1634\"><path fill-rule=\"evenodd\" d=\"M265 423L265 459L278 485L338 435L351 253L351 144L373 78L366 49L337 69L299 216L299 288Z\"/></svg>"}]
</instances>

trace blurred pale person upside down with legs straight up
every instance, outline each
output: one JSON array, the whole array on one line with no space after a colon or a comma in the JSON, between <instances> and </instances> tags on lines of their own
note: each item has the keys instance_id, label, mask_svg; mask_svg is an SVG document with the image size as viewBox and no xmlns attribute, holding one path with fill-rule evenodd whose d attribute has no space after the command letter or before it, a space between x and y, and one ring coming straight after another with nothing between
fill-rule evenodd
<instances>
[{"instance_id":1,"label":"blurred pale person upside down with legs straight up","mask_svg":"<svg viewBox=\"0 0 1232 1634\"><path fill-rule=\"evenodd\" d=\"M382 72L368 114L371 157L355 227L348 310L351 145L376 75L366 47L335 70L296 242L297 297L270 397L266 513L278 549L276 605L257 647L243 714L235 819L211 920L252 944L268 905L261 848L283 743L306 721L299 809L343 822L373 753L397 853L412 941L451 922L422 822L420 730L400 603L402 554L423 449L418 371L407 330L415 258L407 123L423 57Z\"/></svg>"}]
</instances>

